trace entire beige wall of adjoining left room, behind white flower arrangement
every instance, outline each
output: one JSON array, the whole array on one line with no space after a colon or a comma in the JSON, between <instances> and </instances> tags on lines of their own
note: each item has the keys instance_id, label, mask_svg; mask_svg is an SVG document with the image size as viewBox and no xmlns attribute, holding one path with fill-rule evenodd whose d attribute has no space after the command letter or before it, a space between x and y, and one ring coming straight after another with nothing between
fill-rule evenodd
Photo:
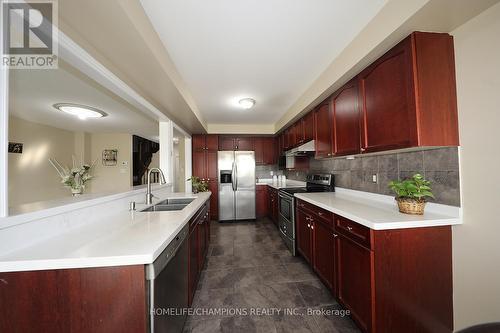
<instances>
[{"instance_id":1,"label":"entire beige wall of adjoining left room, behind white flower arrangement","mask_svg":"<svg viewBox=\"0 0 500 333\"><path fill-rule=\"evenodd\" d=\"M97 159L86 193L123 191L132 185L132 135L66 131L9 117L9 141L24 144L22 154L9 154L9 206L71 196L48 159L71 166ZM102 165L104 149L118 149L116 166ZM125 164L123 163L125 162ZM157 162L156 162L157 163Z\"/></svg>"}]
</instances>

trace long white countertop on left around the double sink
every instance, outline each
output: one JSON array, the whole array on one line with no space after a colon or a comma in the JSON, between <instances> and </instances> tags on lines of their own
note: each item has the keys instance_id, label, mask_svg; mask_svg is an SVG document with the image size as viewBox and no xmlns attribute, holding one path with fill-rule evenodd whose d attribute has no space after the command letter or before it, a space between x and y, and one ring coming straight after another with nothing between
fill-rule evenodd
<instances>
[{"instance_id":1,"label":"long white countertop on left around the double sink","mask_svg":"<svg viewBox=\"0 0 500 333\"><path fill-rule=\"evenodd\" d=\"M64 268L143 265L152 263L191 217L210 198L210 192L169 193L166 198L196 198L180 211L120 210L66 233L0 256L0 272Z\"/></svg>"}]
</instances>

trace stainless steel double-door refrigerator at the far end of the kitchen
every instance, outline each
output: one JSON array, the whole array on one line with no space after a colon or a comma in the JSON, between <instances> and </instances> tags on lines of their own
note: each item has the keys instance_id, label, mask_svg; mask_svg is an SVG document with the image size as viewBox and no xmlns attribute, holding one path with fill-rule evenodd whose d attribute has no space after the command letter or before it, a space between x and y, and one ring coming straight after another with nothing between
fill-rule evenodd
<instances>
[{"instance_id":1,"label":"stainless steel double-door refrigerator at the far end of the kitchen","mask_svg":"<svg viewBox=\"0 0 500 333\"><path fill-rule=\"evenodd\" d=\"M219 151L219 220L255 219L255 153Z\"/></svg>"}]
</instances>

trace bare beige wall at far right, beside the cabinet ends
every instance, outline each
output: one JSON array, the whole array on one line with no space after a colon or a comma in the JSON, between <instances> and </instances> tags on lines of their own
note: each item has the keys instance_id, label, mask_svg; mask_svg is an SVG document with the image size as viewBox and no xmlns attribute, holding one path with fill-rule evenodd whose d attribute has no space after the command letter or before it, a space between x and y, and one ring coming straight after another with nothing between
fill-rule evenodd
<instances>
[{"instance_id":1,"label":"bare beige wall at far right, beside the cabinet ends","mask_svg":"<svg viewBox=\"0 0 500 333\"><path fill-rule=\"evenodd\" d=\"M453 228L455 329L500 320L500 4L452 32L464 224Z\"/></svg>"}]
</instances>

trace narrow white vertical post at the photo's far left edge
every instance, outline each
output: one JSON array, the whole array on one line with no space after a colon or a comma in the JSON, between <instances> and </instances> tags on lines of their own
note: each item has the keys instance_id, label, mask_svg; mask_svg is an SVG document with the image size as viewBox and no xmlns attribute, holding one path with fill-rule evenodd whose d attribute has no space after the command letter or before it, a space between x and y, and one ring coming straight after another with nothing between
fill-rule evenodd
<instances>
[{"instance_id":1,"label":"narrow white vertical post at the photo's far left edge","mask_svg":"<svg viewBox=\"0 0 500 333\"><path fill-rule=\"evenodd\" d=\"M3 4L3 3L2 3ZM1 6L3 8L3 6ZM3 17L0 8L0 17ZM0 55L3 55L3 31L0 29ZM9 144L9 70L0 65L0 217L8 214Z\"/></svg>"}]
</instances>

